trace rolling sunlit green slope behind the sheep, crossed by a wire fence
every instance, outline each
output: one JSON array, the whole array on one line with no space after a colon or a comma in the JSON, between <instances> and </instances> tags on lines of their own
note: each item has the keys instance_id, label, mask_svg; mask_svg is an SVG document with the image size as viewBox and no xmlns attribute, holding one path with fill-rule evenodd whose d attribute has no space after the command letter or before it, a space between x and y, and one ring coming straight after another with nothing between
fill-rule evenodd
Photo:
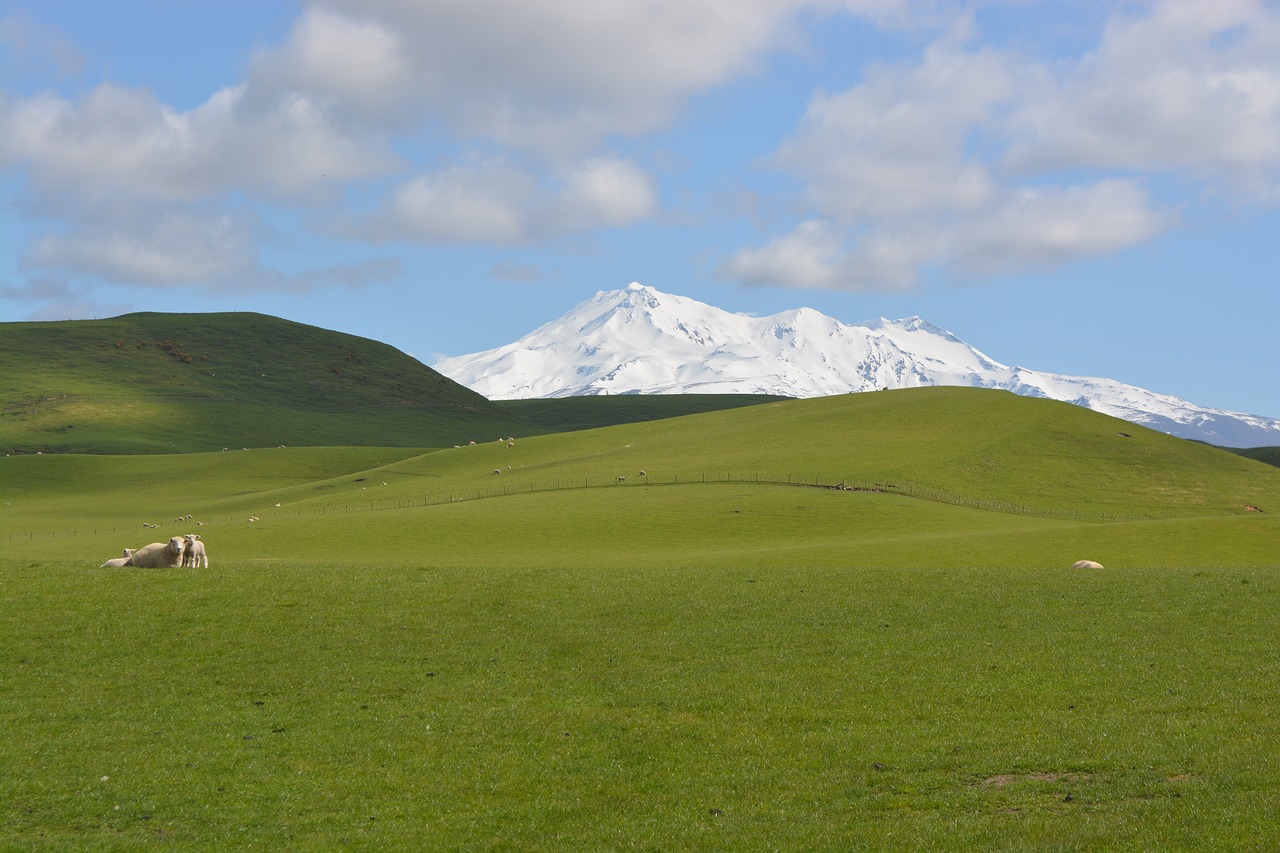
<instances>
[{"instance_id":1,"label":"rolling sunlit green slope behind the sheep, crossed by a wire fence","mask_svg":"<svg viewBox=\"0 0 1280 853\"><path fill-rule=\"evenodd\" d=\"M86 549L105 558L160 535L143 523L187 532L191 515L228 556L255 560L668 565L776 549L824 565L1041 565L1074 552L1068 562L1169 565L1194 548L1196 562L1256 565L1274 558L1280 507L1275 467L1066 403L954 388L428 453L271 448L3 464L12 552L64 558ZM814 488L838 483L867 491ZM262 523L246 523L251 515ZM1116 533L1102 521L1129 524Z\"/></svg>"}]
</instances>

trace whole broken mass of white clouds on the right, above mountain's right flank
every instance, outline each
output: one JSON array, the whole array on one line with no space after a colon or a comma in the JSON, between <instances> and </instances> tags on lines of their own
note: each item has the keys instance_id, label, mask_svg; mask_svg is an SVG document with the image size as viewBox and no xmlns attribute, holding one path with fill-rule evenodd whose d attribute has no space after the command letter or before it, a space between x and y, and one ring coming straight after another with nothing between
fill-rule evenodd
<instances>
[{"instance_id":1,"label":"whole broken mass of white clouds on the right, above mountain's right flank","mask_svg":"<svg viewBox=\"0 0 1280 853\"><path fill-rule=\"evenodd\" d=\"M901 289L925 269L1053 268L1167 231L1176 213L1147 191L1158 175L1280 202L1280 10L1138 9L1074 60L974 47L960 28L915 63L814 95L773 159L801 181L805 222L721 274Z\"/></svg>"}]
</instances>

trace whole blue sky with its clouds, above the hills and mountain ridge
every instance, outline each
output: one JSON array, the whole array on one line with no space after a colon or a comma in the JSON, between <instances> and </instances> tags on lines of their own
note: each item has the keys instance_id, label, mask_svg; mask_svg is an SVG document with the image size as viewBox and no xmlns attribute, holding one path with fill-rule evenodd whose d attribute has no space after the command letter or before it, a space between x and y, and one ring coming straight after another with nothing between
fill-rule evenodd
<instances>
[{"instance_id":1,"label":"whole blue sky with its clouds, above the hills and mountain ridge","mask_svg":"<svg viewBox=\"0 0 1280 853\"><path fill-rule=\"evenodd\" d=\"M632 280L1280 416L1280 4L0 0L0 319Z\"/></svg>"}]
</instances>

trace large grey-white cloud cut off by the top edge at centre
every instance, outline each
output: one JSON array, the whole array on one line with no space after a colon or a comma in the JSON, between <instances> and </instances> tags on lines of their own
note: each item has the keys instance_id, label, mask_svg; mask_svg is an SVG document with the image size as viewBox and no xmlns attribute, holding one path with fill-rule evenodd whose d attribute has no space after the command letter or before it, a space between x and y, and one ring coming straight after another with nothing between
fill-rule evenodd
<instances>
[{"instance_id":1,"label":"large grey-white cloud cut off by the top edge at centre","mask_svg":"<svg viewBox=\"0 0 1280 853\"><path fill-rule=\"evenodd\" d=\"M468 137L581 159L663 127L791 44L824 0L326 0L397 33L413 104ZM851 4L854 6L861 4ZM884 5L884 4L870 4ZM893 5L893 4L888 4Z\"/></svg>"}]
</instances>

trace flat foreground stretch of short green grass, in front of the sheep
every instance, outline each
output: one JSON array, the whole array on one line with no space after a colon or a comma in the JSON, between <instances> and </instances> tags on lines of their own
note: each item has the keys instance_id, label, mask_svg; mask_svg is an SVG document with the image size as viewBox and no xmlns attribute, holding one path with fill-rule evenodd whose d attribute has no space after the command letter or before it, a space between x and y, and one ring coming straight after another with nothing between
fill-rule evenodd
<instances>
[{"instance_id":1,"label":"flat foreground stretch of short green grass, in front of the sheep","mask_svg":"<svg viewBox=\"0 0 1280 853\"><path fill-rule=\"evenodd\" d=\"M1272 571L0 562L9 844L1268 849Z\"/></svg>"}]
</instances>

